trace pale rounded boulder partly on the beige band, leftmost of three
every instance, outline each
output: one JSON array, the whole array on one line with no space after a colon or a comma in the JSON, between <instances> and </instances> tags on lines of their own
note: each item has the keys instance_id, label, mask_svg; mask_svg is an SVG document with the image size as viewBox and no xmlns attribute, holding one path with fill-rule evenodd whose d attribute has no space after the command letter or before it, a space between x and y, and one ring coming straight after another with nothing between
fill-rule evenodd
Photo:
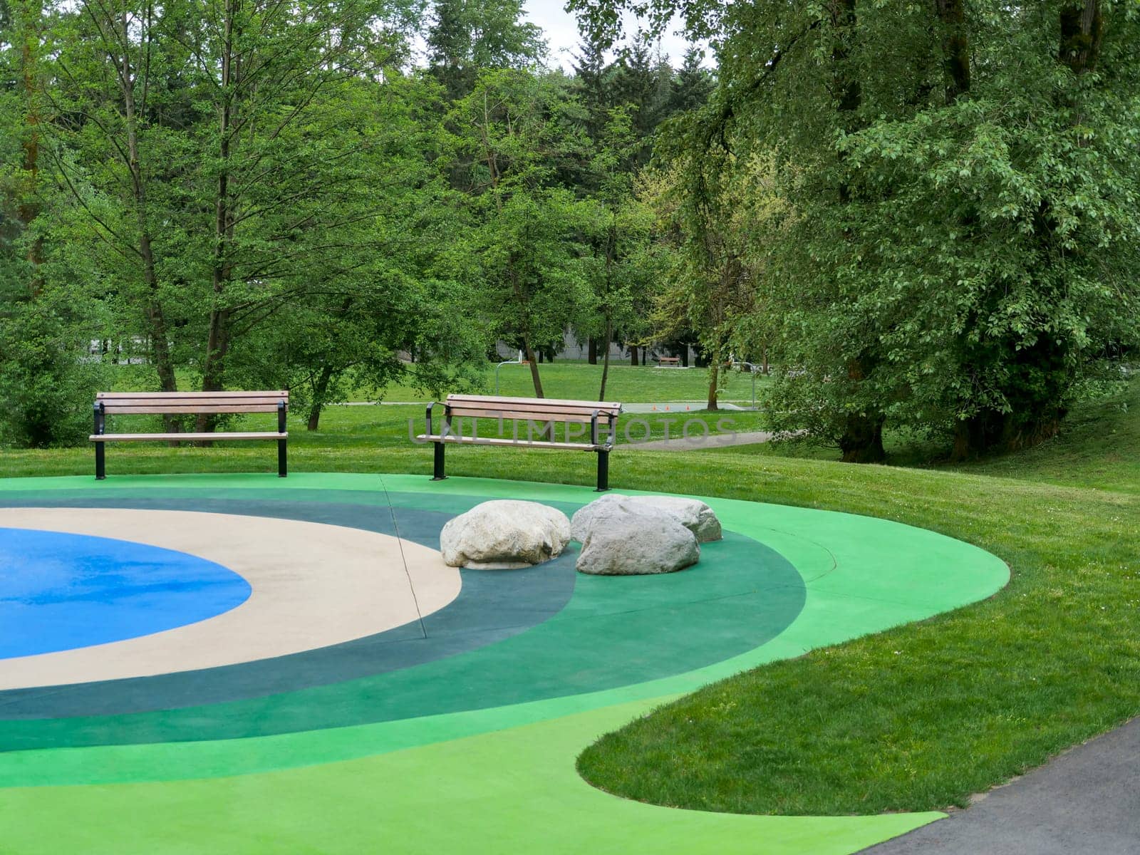
<instances>
[{"instance_id":1,"label":"pale rounded boulder partly on the beige band, leftmost of three","mask_svg":"<svg viewBox=\"0 0 1140 855\"><path fill-rule=\"evenodd\" d=\"M537 502L496 499L448 520L439 534L443 563L450 567L511 569L562 554L570 520Z\"/></svg>"}]
</instances>

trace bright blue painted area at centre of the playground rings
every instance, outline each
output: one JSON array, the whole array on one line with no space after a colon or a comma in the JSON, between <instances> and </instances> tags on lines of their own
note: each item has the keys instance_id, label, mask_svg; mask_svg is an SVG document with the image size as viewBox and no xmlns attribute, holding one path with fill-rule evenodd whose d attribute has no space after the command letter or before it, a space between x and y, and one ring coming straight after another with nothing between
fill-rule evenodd
<instances>
[{"instance_id":1,"label":"bright blue painted area at centre of the playground rings","mask_svg":"<svg viewBox=\"0 0 1140 855\"><path fill-rule=\"evenodd\" d=\"M0 659L173 629L251 593L233 570L184 552L0 528Z\"/></svg>"}]
</instances>

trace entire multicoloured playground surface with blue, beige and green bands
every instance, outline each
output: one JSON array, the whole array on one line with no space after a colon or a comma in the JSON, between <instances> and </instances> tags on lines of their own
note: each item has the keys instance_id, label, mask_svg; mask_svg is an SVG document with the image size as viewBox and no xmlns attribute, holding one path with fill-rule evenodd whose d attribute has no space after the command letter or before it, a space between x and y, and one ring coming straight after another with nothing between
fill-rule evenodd
<instances>
[{"instance_id":1,"label":"entire multicoloured playground surface with blue, beige and green bands","mask_svg":"<svg viewBox=\"0 0 1140 855\"><path fill-rule=\"evenodd\" d=\"M512 571L438 556L443 523L488 498L595 497L422 475L0 481L0 852L839 854L942 816L681 811L596 790L575 759L711 681L990 596L1001 560L709 497L725 538L678 573L580 576L577 545Z\"/></svg>"}]
</instances>

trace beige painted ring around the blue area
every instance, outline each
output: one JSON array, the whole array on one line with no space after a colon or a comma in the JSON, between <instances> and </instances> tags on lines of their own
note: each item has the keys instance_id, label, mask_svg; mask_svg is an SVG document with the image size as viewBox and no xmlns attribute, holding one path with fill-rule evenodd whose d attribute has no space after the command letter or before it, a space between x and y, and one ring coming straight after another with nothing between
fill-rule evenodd
<instances>
[{"instance_id":1,"label":"beige painted ring around the blue area","mask_svg":"<svg viewBox=\"0 0 1140 855\"><path fill-rule=\"evenodd\" d=\"M236 609L153 635L0 659L0 690L197 670L299 653L402 626L459 594L439 552L375 531L193 511L0 508L0 527L177 549L245 577Z\"/></svg>"}]
</instances>

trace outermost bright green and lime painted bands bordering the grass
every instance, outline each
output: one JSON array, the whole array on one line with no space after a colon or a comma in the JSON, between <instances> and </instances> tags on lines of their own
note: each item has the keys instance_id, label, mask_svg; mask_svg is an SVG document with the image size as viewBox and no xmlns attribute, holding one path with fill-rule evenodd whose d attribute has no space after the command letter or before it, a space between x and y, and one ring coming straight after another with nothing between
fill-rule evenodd
<instances>
[{"instance_id":1,"label":"outermost bright green and lime painted bands bordering the grass","mask_svg":"<svg viewBox=\"0 0 1140 855\"><path fill-rule=\"evenodd\" d=\"M92 491L380 486L380 477L353 474L0 481L0 490ZM413 505L418 503L409 494L425 505L440 494L579 503L594 497L583 487L484 479L432 483L384 475L383 487ZM652 683L497 709L259 739L9 754L0 757L0 783L40 785L0 793L0 853L822 854L856 852L938 819L677 811L608 796L575 773L575 757L589 742L673 697L975 602L1008 580L1005 565L988 553L921 529L706 500L726 529L776 549L805 579L803 612L760 648Z\"/></svg>"}]
</instances>

